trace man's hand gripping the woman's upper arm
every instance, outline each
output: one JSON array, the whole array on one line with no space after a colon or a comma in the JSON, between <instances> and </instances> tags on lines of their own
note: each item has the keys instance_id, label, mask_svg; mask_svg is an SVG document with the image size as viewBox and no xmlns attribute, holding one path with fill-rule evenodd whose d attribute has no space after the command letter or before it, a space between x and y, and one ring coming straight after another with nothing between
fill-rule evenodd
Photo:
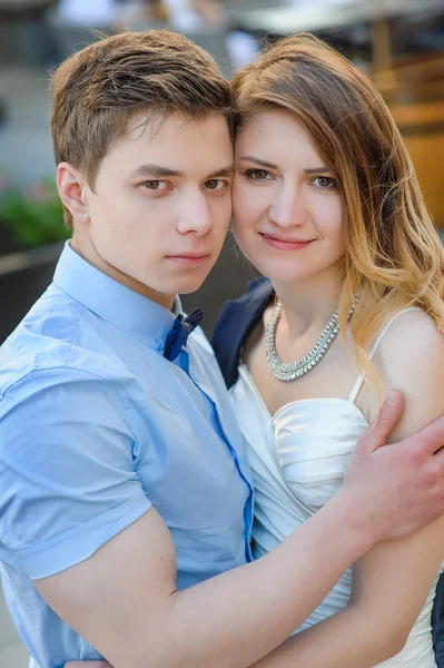
<instances>
[{"instance_id":1,"label":"man's hand gripping the woman's upper arm","mask_svg":"<svg viewBox=\"0 0 444 668\"><path fill-rule=\"evenodd\" d=\"M391 391L359 439L339 492L362 508L363 530L375 542L408 536L444 512L444 416L382 448L403 412L403 395Z\"/></svg>"}]
</instances>

